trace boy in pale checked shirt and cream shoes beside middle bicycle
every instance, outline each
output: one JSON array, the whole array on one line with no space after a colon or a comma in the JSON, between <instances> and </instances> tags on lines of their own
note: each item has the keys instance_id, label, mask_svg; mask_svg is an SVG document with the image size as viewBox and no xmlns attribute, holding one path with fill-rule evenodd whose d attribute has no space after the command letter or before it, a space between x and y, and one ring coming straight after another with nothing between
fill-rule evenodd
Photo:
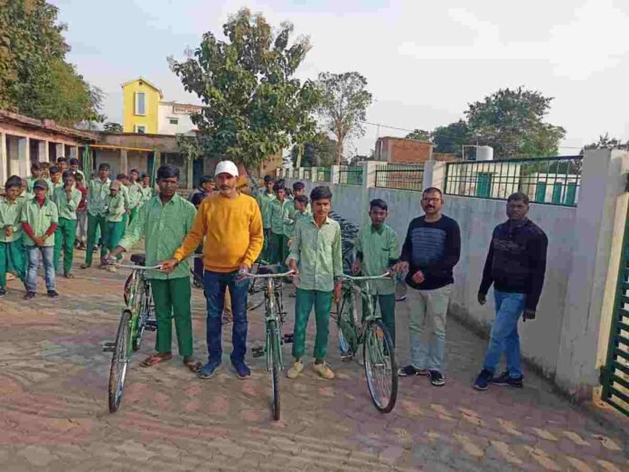
<instances>
[{"instance_id":1,"label":"boy in pale checked shirt and cream shoes beside middle bicycle","mask_svg":"<svg viewBox=\"0 0 629 472\"><path fill-rule=\"evenodd\" d=\"M332 369L325 363L333 297L341 298L343 255L341 227L328 218L332 210L332 192L327 186L314 187L310 194L311 218L301 218L288 256L288 267L296 270L299 280L295 302L293 357L295 363L286 376L295 379L303 370L305 328L314 305L316 337L314 339L314 372L324 379L333 379Z\"/></svg>"}]
</instances>

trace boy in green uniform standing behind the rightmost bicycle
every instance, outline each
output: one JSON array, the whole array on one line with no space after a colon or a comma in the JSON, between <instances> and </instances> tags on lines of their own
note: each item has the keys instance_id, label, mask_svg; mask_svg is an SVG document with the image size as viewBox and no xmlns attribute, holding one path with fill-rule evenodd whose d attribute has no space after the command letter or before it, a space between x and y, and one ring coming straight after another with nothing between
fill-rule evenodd
<instances>
[{"instance_id":1,"label":"boy in green uniform standing behind the rightmost bicycle","mask_svg":"<svg viewBox=\"0 0 629 472\"><path fill-rule=\"evenodd\" d=\"M399 260L398 234L384 221L389 214L389 206L384 200L371 200L369 216L371 224L358 232L354 249L356 260L352 272L362 272L365 276L380 276L390 271ZM395 345L395 282L393 279L371 282L373 307L380 305L382 322L387 327Z\"/></svg>"}]
</instances>

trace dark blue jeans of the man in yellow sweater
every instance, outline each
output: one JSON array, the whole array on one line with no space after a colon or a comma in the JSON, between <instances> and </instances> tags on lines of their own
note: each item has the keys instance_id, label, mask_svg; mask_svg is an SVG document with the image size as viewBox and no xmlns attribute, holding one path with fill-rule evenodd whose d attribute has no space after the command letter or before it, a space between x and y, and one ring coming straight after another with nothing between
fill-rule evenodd
<instances>
[{"instance_id":1,"label":"dark blue jeans of the man in yellow sweater","mask_svg":"<svg viewBox=\"0 0 629 472\"><path fill-rule=\"evenodd\" d=\"M236 281L236 272L211 272L206 270L203 275L205 297L207 300L208 318L206 335L208 343L208 360L221 362L222 346L222 311L225 305L225 290L230 290L231 313L234 324L231 331L231 362L244 362L247 353L247 294L249 282L247 280Z\"/></svg>"}]
</instances>

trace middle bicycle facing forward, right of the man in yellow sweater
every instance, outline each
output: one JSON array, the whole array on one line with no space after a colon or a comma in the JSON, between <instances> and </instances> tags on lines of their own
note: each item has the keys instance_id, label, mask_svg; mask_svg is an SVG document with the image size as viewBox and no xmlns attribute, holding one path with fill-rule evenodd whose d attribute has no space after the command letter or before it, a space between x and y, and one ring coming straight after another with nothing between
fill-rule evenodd
<instances>
[{"instance_id":1,"label":"middle bicycle facing forward, right of the man in yellow sweater","mask_svg":"<svg viewBox=\"0 0 629 472\"><path fill-rule=\"evenodd\" d=\"M264 292L266 337L264 353L267 354L267 372L271 373L271 392L273 395L273 419L279 420L279 376L284 369L282 360L282 324L284 323L284 306L282 303L282 278L288 277L293 270L278 273L280 266L258 265L256 274L247 274L244 278L263 279L266 282ZM253 284L252 284L253 285ZM255 355L256 353L254 353ZM259 352L262 355L262 352Z\"/></svg>"}]
</instances>

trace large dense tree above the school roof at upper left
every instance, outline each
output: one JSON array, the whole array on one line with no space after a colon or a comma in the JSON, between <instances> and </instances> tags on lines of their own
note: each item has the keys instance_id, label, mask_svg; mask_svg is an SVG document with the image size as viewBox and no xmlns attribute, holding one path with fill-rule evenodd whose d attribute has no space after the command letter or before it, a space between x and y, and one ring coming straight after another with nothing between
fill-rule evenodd
<instances>
[{"instance_id":1,"label":"large dense tree above the school roof at upper left","mask_svg":"<svg viewBox=\"0 0 629 472\"><path fill-rule=\"evenodd\" d=\"M63 125L99 121L102 94L65 61L57 14L44 0L0 0L0 108Z\"/></svg>"}]
</instances>

